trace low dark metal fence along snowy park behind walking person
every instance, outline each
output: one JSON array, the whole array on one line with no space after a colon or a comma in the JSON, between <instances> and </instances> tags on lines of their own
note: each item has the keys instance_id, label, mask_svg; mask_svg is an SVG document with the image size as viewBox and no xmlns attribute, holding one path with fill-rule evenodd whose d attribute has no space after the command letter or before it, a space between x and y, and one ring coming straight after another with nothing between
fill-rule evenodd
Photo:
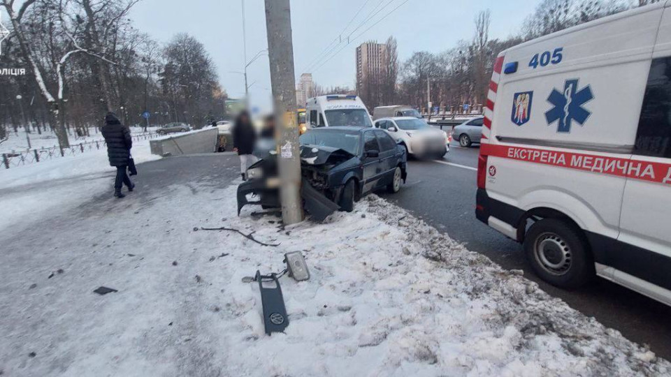
<instances>
[{"instance_id":1,"label":"low dark metal fence along snowy park behind walking person","mask_svg":"<svg viewBox=\"0 0 671 377\"><path fill-rule=\"evenodd\" d=\"M147 140L157 138L160 135L155 132L145 132L131 135L133 141ZM105 140L93 140L89 142L80 142L71 144L70 147L50 147L40 149L26 149L23 151L11 151L2 154L2 164L5 169L16 168L22 165L38 163L40 161L51 160L52 158L77 156L87 151L97 150L106 147Z\"/></svg>"}]
</instances>

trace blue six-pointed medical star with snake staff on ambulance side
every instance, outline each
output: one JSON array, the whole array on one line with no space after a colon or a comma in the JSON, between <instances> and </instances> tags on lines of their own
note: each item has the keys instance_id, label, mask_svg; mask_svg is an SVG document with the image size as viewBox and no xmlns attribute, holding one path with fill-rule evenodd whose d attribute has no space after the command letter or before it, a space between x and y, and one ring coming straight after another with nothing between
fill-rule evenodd
<instances>
[{"instance_id":1,"label":"blue six-pointed medical star with snake staff on ambulance side","mask_svg":"<svg viewBox=\"0 0 671 377\"><path fill-rule=\"evenodd\" d=\"M554 108L545 112L547 125L558 121L557 132L571 132L573 121L577 121L582 126L587 118L592 114L583 105L594 98L592 89L587 85L578 90L578 79L566 80L564 82L564 91L552 89L547 97L547 101L554 105Z\"/></svg>"}]
</instances>

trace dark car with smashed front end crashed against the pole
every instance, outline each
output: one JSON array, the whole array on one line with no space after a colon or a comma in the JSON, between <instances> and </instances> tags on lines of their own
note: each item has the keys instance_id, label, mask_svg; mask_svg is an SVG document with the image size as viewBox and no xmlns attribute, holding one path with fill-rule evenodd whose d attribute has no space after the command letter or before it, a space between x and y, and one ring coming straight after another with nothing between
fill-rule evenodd
<instances>
[{"instance_id":1,"label":"dark car with smashed front end crashed against the pole","mask_svg":"<svg viewBox=\"0 0 671 377\"><path fill-rule=\"evenodd\" d=\"M301 135L301 175L303 208L321 221L338 209L351 212L354 202L378 189L398 192L407 177L407 156L377 128L315 128ZM248 204L280 207L275 154L250 166L247 177L238 186L238 214Z\"/></svg>"}]
</instances>

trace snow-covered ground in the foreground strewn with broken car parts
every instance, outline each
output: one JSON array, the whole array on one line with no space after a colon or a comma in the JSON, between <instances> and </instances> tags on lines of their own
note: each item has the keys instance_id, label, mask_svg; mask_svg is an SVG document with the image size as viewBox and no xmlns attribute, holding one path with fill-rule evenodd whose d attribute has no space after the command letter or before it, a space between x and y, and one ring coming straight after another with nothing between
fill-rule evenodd
<instances>
[{"instance_id":1,"label":"snow-covered ground in the foreground strewn with broken car parts","mask_svg":"<svg viewBox=\"0 0 671 377\"><path fill-rule=\"evenodd\" d=\"M161 161L162 162L162 161ZM661 376L671 364L370 196L324 223L236 216L202 180L85 202L0 232L6 376ZM145 196L140 196L145 195ZM228 226L254 232L261 246ZM449 230L448 230L449 231ZM18 245L18 246L17 246ZM267 336L257 283L290 324ZM99 286L118 290L100 296Z\"/></svg>"}]
</instances>

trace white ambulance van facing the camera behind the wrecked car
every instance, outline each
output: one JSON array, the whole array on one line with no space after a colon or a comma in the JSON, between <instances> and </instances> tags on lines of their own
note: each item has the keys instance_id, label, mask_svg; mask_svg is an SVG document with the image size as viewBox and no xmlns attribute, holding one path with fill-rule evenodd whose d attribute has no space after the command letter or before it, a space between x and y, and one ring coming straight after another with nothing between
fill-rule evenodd
<instances>
[{"instance_id":1,"label":"white ambulance van facing the camera behind the wrecked car","mask_svg":"<svg viewBox=\"0 0 671 377\"><path fill-rule=\"evenodd\" d=\"M308 128L329 126L373 127L373 121L359 96L331 94L308 98Z\"/></svg>"}]
</instances>

